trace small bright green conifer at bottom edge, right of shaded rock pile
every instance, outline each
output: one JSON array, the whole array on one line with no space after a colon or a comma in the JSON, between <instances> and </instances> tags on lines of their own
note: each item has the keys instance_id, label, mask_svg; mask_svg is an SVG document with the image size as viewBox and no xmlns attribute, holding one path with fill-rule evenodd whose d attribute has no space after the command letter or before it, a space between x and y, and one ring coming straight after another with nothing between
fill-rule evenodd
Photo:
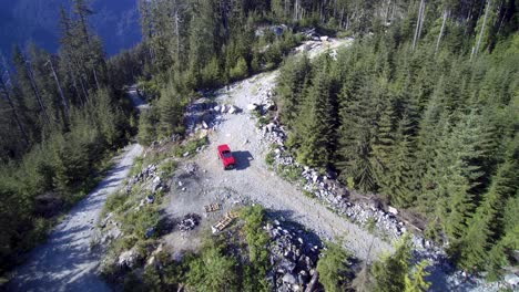
<instances>
[{"instance_id":1,"label":"small bright green conifer at bottom edge, right of shaded rock pile","mask_svg":"<svg viewBox=\"0 0 519 292\"><path fill-rule=\"evenodd\" d=\"M326 291L345 291L352 272L347 259L349 254L338 244L328 242L323 257L317 262L319 282Z\"/></svg>"}]
</instances>

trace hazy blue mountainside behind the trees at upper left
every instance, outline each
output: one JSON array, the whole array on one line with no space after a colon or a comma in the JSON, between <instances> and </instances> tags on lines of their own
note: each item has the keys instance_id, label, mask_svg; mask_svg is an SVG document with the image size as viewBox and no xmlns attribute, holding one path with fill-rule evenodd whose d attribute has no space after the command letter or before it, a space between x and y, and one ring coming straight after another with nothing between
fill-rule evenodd
<instances>
[{"instance_id":1,"label":"hazy blue mountainside behind the trees at upper left","mask_svg":"<svg viewBox=\"0 0 519 292\"><path fill-rule=\"evenodd\" d=\"M92 0L94 15L90 23L101 36L109 55L130 49L141 40L136 1ZM0 51L11 53L14 43L33 41L48 51L58 50L60 7L70 9L69 0L0 0Z\"/></svg>"}]
</instances>

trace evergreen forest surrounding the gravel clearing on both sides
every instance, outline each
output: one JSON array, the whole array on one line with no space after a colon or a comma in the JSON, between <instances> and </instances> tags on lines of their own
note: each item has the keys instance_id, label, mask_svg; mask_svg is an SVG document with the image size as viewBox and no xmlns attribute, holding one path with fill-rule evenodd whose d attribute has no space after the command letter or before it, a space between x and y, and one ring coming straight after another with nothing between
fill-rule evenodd
<instances>
[{"instance_id":1,"label":"evergreen forest surrounding the gravel clearing on both sides","mask_svg":"<svg viewBox=\"0 0 519 292\"><path fill-rule=\"evenodd\" d=\"M73 0L58 52L29 43L0 60L0 274L131 137L147 146L183 135L183 108L203 92L279 66L278 118L298 163L419 218L460 269L498 279L519 250L518 10L515 0L140 0L142 42L109 59L94 11ZM315 60L292 55L308 29L355 41ZM124 97L134 83L152 104L140 116ZM374 265L373 289L427 289L384 273L407 271L395 258L408 244ZM214 277L201 267L221 250L204 252L191 286L237 281L203 285ZM346 258L335 246L328 254Z\"/></svg>"}]
</instances>

